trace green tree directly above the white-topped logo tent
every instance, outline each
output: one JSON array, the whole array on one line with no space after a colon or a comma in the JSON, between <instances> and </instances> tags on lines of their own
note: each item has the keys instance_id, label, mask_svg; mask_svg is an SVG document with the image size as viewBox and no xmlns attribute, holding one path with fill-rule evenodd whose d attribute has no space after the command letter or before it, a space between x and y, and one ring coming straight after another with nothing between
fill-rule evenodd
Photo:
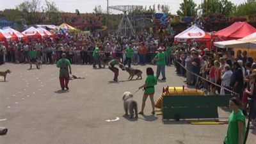
<instances>
[{"instance_id":1,"label":"green tree directly above the white-topped logo tent","mask_svg":"<svg viewBox=\"0 0 256 144\"><path fill-rule=\"evenodd\" d=\"M193 0L184 0L184 2L180 4L180 10L177 11L177 15L196 16L197 10L196 3Z\"/></svg>"}]
</instances>

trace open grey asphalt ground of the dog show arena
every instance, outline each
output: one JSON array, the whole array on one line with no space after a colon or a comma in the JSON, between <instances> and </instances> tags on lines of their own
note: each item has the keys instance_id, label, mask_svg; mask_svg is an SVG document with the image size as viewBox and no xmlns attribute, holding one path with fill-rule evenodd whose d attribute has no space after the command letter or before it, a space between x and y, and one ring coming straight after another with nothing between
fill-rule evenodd
<instances>
[{"instance_id":1,"label":"open grey asphalt ground of the dog show arena","mask_svg":"<svg viewBox=\"0 0 256 144\"><path fill-rule=\"evenodd\" d=\"M119 82L113 81L108 68L93 69L92 65L72 65L77 77L69 83L69 91L61 91L56 65L6 63L0 71L10 69L6 82L0 76L0 127L8 133L0 136L6 144L94 144L94 143L223 143L227 132L225 125L191 125L188 121L163 122L161 116L151 115L147 100L144 116L138 120L124 115L124 92L136 92L145 82L146 68L155 65L132 66L143 71L142 80L127 81L129 74L120 70ZM161 76L159 77L162 78ZM182 86L183 77L175 74L174 67L166 67L166 82L159 81L154 99L161 95L163 86ZM143 91L134 94L141 108ZM218 109L221 118L227 119L228 111ZM106 122L106 120L115 120ZM250 130L248 143L255 143L256 130Z\"/></svg>"}]
</instances>

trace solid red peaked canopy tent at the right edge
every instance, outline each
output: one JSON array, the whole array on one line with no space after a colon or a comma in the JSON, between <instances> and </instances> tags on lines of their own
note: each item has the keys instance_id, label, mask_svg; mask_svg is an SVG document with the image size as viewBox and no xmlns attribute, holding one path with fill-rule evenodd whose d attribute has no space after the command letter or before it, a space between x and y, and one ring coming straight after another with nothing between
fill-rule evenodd
<instances>
[{"instance_id":1,"label":"solid red peaked canopy tent at the right edge","mask_svg":"<svg viewBox=\"0 0 256 144\"><path fill-rule=\"evenodd\" d=\"M225 29L212 33L212 38L218 40L236 40L254 32L256 32L256 29L247 22L235 22Z\"/></svg>"}]
</instances>

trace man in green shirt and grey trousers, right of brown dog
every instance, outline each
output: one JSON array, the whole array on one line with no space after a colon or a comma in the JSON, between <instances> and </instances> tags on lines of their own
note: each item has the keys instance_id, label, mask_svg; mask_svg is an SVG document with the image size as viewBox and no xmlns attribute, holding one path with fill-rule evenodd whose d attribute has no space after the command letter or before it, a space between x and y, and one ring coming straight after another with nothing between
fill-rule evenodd
<instances>
[{"instance_id":1,"label":"man in green shirt and grey trousers, right of brown dog","mask_svg":"<svg viewBox=\"0 0 256 144\"><path fill-rule=\"evenodd\" d=\"M165 65L166 65L166 56L163 52L163 49L159 48L157 49L157 54L155 56L155 58L152 60L152 62L154 63L156 61L156 65L157 65L157 70L156 70L156 77L157 79L160 76L160 72L162 73L162 80L165 81L166 77L165 77Z\"/></svg>"}]
</instances>

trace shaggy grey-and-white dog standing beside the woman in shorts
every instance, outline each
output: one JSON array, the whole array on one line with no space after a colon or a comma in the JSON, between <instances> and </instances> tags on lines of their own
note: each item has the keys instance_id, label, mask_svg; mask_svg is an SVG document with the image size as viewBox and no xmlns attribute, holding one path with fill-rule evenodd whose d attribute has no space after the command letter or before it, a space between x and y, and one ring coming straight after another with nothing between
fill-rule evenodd
<instances>
[{"instance_id":1,"label":"shaggy grey-and-white dog standing beside the woman in shorts","mask_svg":"<svg viewBox=\"0 0 256 144\"><path fill-rule=\"evenodd\" d=\"M125 116L128 115L128 111L130 113L129 118L133 118L135 113L135 118L138 118L138 106L137 102L135 100L132 100L132 93L131 92L125 92L123 96L124 100L124 110L125 110Z\"/></svg>"}]
</instances>

